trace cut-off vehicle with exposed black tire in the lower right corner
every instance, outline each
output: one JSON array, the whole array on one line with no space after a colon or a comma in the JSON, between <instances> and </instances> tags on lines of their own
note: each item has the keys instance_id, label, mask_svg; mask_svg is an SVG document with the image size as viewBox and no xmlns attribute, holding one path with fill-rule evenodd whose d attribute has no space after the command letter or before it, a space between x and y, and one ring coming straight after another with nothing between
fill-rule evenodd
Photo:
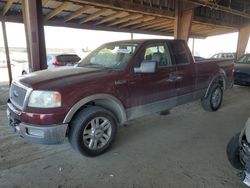
<instances>
[{"instance_id":1,"label":"cut-off vehicle with exposed black tire in the lower right corner","mask_svg":"<svg viewBox=\"0 0 250 188\"><path fill-rule=\"evenodd\" d=\"M230 139L227 157L230 164L241 171L243 183L250 187L250 118L242 131Z\"/></svg>"}]
</instances>

